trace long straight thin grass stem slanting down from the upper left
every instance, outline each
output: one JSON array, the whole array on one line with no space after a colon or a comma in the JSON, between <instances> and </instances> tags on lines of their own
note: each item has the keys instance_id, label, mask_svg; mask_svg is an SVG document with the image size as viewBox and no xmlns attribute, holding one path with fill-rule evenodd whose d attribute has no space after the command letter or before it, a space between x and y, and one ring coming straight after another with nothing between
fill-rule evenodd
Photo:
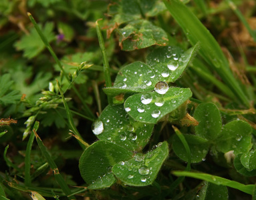
<instances>
[{"instance_id":1,"label":"long straight thin grass stem slanting down from the upper left","mask_svg":"<svg viewBox=\"0 0 256 200\"><path fill-rule=\"evenodd\" d=\"M29 16L30 21L33 23L35 30L37 31L38 35L41 37L41 40L43 41L45 47L48 49L49 53L51 53L51 56L53 57L53 59L55 60L55 62L57 63L57 66L59 67L59 69L61 70L61 72L63 73L64 77L66 77L66 79L68 81L70 81L68 74L64 71L59 59L57 58L57 55L54 53L53 49L51 48L51 45L49 45L49 42L47 41L47 38L45 37L45 35L43 35L43 33L41 32L39 26L37 25L37 23L35 22L35 19L33 19L33 16L31 15L31 13L27 13L27 15ZM78 90L76 89L76 87L74 85L71 85L72 89L74 89L76 95L78 95L78 98L81 100L82 104L84 105L84 109L86 111L86 113L92 117L93 119L96 119L96 117L94 116L94 114L92 113L92 111L89 109L88 105L86 104L86 102L84 101L84 99L82 98L82 96L80 95L80 93L78 92Z\"/></svg>"}]
</instances>

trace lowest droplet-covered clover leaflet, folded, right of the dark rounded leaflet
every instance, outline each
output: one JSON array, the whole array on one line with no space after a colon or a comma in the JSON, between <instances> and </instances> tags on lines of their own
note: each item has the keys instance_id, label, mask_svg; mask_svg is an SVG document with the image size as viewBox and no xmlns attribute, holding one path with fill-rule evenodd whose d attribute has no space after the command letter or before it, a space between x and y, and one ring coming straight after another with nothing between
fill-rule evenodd
<instances>
[{"instance_id":1,"label":"lowest droplet-covered clover leaflet, folded, right of the dark rounded leaflet","mask_svg":"<svg viewBox=\"0 0 256 200\"><path fill-rule=\"evenodd\" d=\"M168 143L159 143L145 155L137 153L128 161L114 165L114 175L126 185L145 186L153 183L162 163L168 156Z\"/></svg>"}]
</instances>

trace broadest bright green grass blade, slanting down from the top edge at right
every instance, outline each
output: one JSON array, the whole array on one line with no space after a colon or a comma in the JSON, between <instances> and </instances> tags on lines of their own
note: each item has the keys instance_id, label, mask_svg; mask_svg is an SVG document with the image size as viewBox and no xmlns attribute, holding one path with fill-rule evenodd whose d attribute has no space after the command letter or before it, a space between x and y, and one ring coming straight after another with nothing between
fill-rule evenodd
<instances>
[{"instance_id":1,"label":"broadest bright green grass blade, slanting down from the top edge at right","mask_svg":"<svg viewBox=\"0 0 256 200\"><path fill-rule=\"evenodd\" d=\"M213 69L215 69L215 71L217 71L221 79L223 79L223 81L237 96L237 100L249 107L249 100L231 73L229 63L213 35L209 33L201 21L199 21L199 19L181 1L163 1L172 17L174 17L186 33L186 37L189 39L191 45L195 45L200 42L200 55L213 67Z\"/></svg>"}]
</instances>

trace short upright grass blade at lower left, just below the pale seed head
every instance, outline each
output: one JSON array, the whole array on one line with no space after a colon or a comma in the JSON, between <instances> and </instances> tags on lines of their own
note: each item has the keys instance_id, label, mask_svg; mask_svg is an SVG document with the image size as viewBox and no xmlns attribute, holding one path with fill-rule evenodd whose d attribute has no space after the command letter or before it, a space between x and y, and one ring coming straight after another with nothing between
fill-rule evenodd
<instances>
[{"instance_id":1,"label":"short upright grass blade at lower left, just below the pale seed head","mask_svg":"<svg viewBox=\"0 0 256 200\"><path fill-rule=\"evenodd\" d=\"M37 131L38 128L39 128L39 121L35 121L33 130ZM27 185L27 186L31 186L30 155L31 155L31 149L32 149L34 138L35 138L35 135L32 131L29 136L29 141L27 142L27 149L26 149L26 154L25 154L25 185Z\"/></svg>"}]
</instances>

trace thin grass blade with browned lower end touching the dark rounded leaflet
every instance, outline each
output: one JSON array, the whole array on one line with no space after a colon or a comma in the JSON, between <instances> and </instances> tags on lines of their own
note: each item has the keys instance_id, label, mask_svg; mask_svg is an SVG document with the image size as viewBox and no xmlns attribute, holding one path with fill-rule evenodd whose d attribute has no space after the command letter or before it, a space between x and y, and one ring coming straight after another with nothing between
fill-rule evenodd
<instances>
[{"instance_id":1,"label":"thin grass blade with browned lower end touching the dark rounded leaflet","mask_svg":"<svg viewBox=\"0 0 256 200\"><path fill-rule=\"evenodd\" d=\"M57 79L56 79L56 81L57 81ZM58 89L59 89L59 93L60 93L60 95L61 95L61 98L62 98L64 107L65 107L65 109L66 109L66 113L67 113L68 123L69 123L69 125L70 125L70 129L73 131L73 133L75 133L78 137L80 137L80 138L82 139L80 133L78 132L78 129L76 129L76 125L75 125L75 123L74 123L72 114L71 114L71 112L70 112L70 108L68 107L68 103L67 103L67 101L66 101L66 99L65 99L65 97L64 97L64 95L63 95L63 91L62 91L62 89L61 89L61 87L60 87L60 85L59 85L59 81L57 81L57 87L58 87ZM78 141L78 142L80 143L80 146L81 146L83 149L86 149L87 147L90 146L90 145L89 145L88 143L86 143L85 141L84 141L84 143L81 143L80 141ZM84 144L86 144L86 145L84 145Z\"/></svg>"}]
</instances>

